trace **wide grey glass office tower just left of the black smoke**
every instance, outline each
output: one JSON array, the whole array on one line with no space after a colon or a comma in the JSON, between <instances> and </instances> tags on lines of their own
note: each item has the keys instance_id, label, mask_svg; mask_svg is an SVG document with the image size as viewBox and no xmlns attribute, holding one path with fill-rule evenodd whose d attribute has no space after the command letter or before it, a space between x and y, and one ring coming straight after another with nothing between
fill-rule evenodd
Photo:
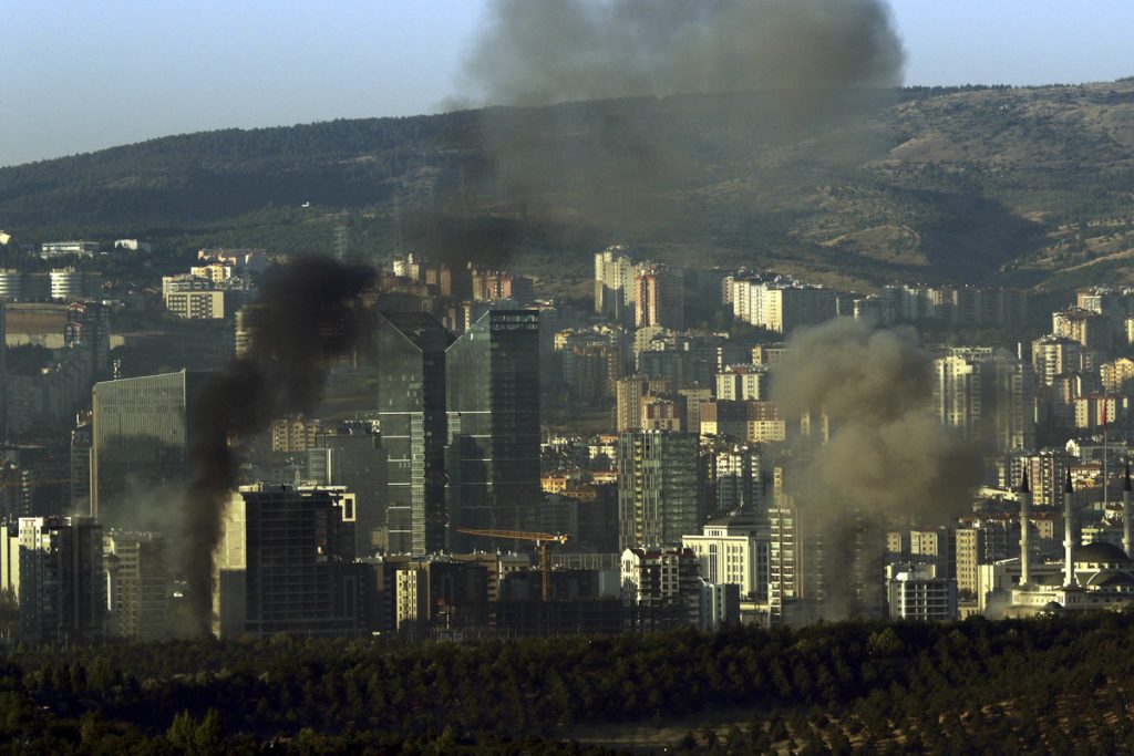
<instances>
[{"instance_id":1,"label":"wide grey glass office tower just left of the black smoke","mask_svg":"<svg viewBox=\"0 0 1134 756\"><path fill-rule=\"evenodd\" d=\"M94 384L92 517L134 530L168 525L187 477L187 417L206 376L180 371Z\"/></svg>"}]
</instances>

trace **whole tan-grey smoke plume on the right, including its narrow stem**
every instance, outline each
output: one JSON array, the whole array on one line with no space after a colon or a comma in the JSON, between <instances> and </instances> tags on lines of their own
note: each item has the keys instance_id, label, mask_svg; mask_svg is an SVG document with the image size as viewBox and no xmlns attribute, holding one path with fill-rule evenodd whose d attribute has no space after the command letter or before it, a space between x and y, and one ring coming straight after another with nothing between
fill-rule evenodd
<instances>
[{"instance_id":1,"label":"whole tan-grey smoke plume on the right, including its narrow stem","mask_svg":"<svg viewBox=\"0 0 1134 756\"><path fill-rule=\"evenodd\" d=\"M933 414L932 359L913 329L837 318L788 347L772 400L789 423L810 416L815 428L787 466L801 537L818 559L803 595L820 600L823 619L877 617L886 529L955 518L981 459Z\"/></svg>"}]
</instances>

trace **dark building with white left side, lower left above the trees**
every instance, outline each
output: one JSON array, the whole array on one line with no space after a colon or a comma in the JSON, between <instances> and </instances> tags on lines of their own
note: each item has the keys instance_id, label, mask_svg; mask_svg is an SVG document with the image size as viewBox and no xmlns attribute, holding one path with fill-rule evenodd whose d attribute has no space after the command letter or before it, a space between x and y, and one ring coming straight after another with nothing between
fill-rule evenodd
<instances>
[{"instance_id":1,"label":"dark building with white left side, lower left above the trees","mask_svg":"<svg viewBox=\"0 0 1134 756\"><path fill-rule=\"evenodd\" d=\"M25 643L102 637L102 526L88 517L19 519L19 626Z\"/></svg>"}]
</instances>

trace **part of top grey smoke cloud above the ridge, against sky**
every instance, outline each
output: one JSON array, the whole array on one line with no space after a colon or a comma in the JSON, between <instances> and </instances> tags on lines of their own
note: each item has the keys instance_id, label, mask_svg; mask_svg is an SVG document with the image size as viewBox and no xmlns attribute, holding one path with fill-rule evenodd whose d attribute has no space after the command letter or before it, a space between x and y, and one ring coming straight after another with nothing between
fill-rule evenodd
<instances>
[{"instance_id":1,"label":"part of top grey smoke cloud above the ridge, against sky","mask_svg":"<svg viewBox=\"0 0 1134 756\"><path fill-rule=\"evenodd\" d=\"M900 84L880 0L496 0L465 69L489 104Z\"/></svg>"}]
</instances>

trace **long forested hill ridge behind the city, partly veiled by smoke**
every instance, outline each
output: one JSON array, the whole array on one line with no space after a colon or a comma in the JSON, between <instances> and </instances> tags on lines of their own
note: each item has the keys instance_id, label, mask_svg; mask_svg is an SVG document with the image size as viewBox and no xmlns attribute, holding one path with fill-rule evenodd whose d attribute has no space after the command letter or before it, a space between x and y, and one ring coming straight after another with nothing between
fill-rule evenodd
<instances>
[{"instance_id":1,"label":"long forested hill ridge behind the city, partly veiled by smoke","mask_svg":"<svg viewBox=\"0 0 1134 756\"><path fill-rule=\"evenodd\" d=\"M302 252L346 228L381 255L502 223L509 253L579 274L621 241L865 287L1134 282L1134 79L845 105L699 95L166 137L0 169L0 229Z\"/></svg>"}]
</instances>

